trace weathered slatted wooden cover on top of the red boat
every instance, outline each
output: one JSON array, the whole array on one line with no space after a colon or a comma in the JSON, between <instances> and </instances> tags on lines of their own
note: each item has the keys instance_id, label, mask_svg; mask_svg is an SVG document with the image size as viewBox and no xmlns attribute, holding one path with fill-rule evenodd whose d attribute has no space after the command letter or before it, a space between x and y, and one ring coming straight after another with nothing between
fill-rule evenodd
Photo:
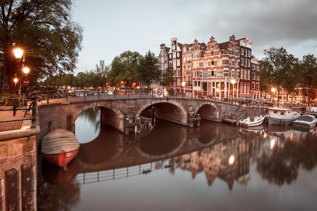
<instances>
[{"instance_id":1,"label":"weathered slatted wooden cover on top of the red boat","mask_svg":"<svg viewBox=\"0 0 317 211\"><path fill-rule=\"evenodd\" d=\"M80 144L72 132L56 129L43 137L41 151L44 154L58 154L78 149L79 147Z\"/></svg>"}]
</instances>

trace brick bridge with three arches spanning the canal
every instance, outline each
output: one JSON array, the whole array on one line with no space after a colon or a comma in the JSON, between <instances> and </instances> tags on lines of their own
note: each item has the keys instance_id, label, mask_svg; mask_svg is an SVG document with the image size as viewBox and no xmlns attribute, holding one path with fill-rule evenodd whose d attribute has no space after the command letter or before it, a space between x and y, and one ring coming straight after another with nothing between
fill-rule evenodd
<instances>
[{"instance_id":1,"label":"brick bridge with three arches spanning the canal","mask_svg":"<svg viewBox=\"0 0 317 211\"><path fill-rule=\"evenodd\" d=\"M41 133L37 140L49 131L65 129L74 132L76 118L85 110L98 107L101 121L125 133L127 126L138 124L144 110L152 109L155 118L183 126L192 126L193 120L201 119L220 122L223 117L234 113L239 105L193 98L111 98L81 100L43 104L37 107Z\"/></svg>"}]
</instances>

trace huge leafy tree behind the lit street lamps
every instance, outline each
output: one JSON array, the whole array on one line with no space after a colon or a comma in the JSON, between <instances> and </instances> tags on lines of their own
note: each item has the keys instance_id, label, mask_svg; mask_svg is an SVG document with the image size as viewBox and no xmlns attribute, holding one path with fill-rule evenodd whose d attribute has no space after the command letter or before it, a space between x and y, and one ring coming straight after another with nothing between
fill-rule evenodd
<instances>
[{"instance_id":1,"label":"huge leafy tree behind the lit street lamps","mask_svg":"<svg viewBox=\"0 0 317 211\"><path fill-rule=\"evenodd\" d=\"M46 75L74 70L83 29L71 21L73 4L73 0L1 1L0 49L10 93L15 90L13 78L22 74L12 51L17 47L24 51L31 85Z\"/></svg>"}]
</instances>

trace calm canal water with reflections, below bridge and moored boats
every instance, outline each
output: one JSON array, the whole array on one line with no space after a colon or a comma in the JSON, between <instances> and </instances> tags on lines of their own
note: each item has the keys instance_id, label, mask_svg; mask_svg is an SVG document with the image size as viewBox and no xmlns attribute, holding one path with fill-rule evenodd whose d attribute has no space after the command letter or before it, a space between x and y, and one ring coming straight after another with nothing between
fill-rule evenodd
<instances>
[{"instance_id":1,"label":"calm canal water with reflections, below bridge and moored boats","mask_svg":"<svg viewBox=\"0 0 317 211\"><path fill-rule=\"evenodd\" d=\"M316 210L317 131L156 120L141 135L75 122L68 171L38 160L37 210Z\"/></svg>"}]
</instances>

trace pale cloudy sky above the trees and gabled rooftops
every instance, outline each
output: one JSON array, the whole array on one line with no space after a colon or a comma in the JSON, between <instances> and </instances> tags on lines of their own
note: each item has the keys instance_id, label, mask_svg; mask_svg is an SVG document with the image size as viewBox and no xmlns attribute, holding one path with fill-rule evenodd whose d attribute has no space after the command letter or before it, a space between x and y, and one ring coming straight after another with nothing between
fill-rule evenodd
<instances>
[{"instance_id":1,"label":"pale cloudy sky above the trees and gabled rooftops","mask_svg":"<svg viewBox=\"0 0 317 211\"><path fill-rule=\"evenodd\" d=\"M73 21L84 28L77 72L94 69L100 60L111 64L125 51L156 56L171 38L191 44L196 38L218 43L250 36L252 54L285 48L302 59L317 57L317 1L315 0L76 0Z\"/></svg>"}]
</instances>

